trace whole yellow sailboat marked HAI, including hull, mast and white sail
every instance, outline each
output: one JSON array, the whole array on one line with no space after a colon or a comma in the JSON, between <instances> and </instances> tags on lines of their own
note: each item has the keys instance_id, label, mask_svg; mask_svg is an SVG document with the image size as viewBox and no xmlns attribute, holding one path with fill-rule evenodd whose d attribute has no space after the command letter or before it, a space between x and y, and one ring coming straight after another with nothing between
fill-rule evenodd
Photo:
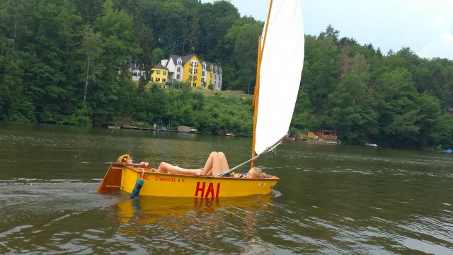
<instances>
[{"instance_id":1,"label":"whole yellow sailboat marked HAI, including hull, mast and white sail","mask_svg":"<svg viewBox=\"0 0 453 255\"><path fill-rule=\"evenodd\" d=\"M259 39L252 157L248 161L252 166L254 160L277 147L286 137L292 119L304 62L301 0L271 0ZM285 70L285 74L277 75L277 70ZM190 176L156 173L142 166L113 163L98 193L119 189L132 193L140 183L140 196L241 197L271 193L280 180L271 175L256 179L224 176L239 166L219 176Z\"/></svg>"}]
</instances>

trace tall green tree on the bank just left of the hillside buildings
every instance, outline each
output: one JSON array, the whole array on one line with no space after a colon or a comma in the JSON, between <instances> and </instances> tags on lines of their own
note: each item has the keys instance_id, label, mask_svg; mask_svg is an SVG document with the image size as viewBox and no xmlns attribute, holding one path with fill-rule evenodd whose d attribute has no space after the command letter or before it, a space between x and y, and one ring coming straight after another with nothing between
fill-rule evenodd
<instances>
[{"instance_id":1,"label":"tall green tree on the bank just left of the hillside buildings","mask_svg":"<svg viewBox=\"0 0 453 255\"><path fill-rule=\"evenodd\" d=\"M112 1L105 1L103 16L98 17L95 26L102 40L99 61L105 69L87 96L95 118L122 111L132 93L137 93L132 89L129 67L141 51L132 40L132 25L132 18L125 11L115 10Z\"/></svg>"}]
</instances>

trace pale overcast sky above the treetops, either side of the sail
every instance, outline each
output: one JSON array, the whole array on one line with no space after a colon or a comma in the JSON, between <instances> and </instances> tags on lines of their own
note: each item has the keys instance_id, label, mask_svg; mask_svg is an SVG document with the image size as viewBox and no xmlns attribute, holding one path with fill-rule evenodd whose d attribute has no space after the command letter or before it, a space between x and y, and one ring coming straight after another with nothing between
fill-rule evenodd
<instances>
[{"instance_id":1,"label":"pale overcast sky above the treetops, either side of the sail","mask_svg":"<svg viewBox=\"0 0 453 255\"><path fill-rule=\"evenodd\" d=\"M212 0L202 0L207 2ZM270 0L229 0L241 16L264 21ZM386 54L410 47L420 57L453 60L453 0L302 0L305 33L329 24L340 38L372 43Z\"/></svg>"}]
</instances>

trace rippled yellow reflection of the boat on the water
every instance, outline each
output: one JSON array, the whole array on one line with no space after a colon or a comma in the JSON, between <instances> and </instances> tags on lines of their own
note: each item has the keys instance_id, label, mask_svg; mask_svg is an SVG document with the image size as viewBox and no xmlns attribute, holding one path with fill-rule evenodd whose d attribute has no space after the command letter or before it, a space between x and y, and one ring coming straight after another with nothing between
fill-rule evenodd
<instances>
[{"instance_id":1,"label":"rippled yellow reflection of the boat on the water","mask_svg":"<svg viewBox=\"0 0 453 255\"><path fill-rule=\"evenodd\" d=\"M119 222L119 234L150 241L164 238L165 232L178 234L178 242L188 242L187 237L212 238L209 236L214 232L226 234L239 230L253 242L252 235L256 231L253 225L265 220L265 215L272 210L273 194L243 198L140 196L113 205L108 217Z\"/></svg>"}]
</instances>

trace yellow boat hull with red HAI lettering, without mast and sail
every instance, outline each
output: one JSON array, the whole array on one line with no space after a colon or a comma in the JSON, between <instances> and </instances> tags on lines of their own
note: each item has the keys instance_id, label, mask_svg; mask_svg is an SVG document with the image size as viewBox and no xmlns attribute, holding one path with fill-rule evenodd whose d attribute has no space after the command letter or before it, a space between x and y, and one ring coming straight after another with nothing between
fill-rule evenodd
<instances>
[{"instance_id":1,"label":"yellow boat hull with red HAI lettering, without mast and sail","mask_svg":"<svg viewBox=\"0 0 453 255\"><path fill-rule=\"evenodd\" d=\"M110 173L116 172L117 179L108 181ZM120 183L119 171L121 171ZM179 197L179 198L232 198L252 195L265 195L272 192L280 179L267 176L263 179L246 179L214 176L191 176L164 174L139 169L134 166L112 164L105 175L98 193L120 189L132 193L137 179L143 179L140 196Z\"/></svg>"}]
</instances>

